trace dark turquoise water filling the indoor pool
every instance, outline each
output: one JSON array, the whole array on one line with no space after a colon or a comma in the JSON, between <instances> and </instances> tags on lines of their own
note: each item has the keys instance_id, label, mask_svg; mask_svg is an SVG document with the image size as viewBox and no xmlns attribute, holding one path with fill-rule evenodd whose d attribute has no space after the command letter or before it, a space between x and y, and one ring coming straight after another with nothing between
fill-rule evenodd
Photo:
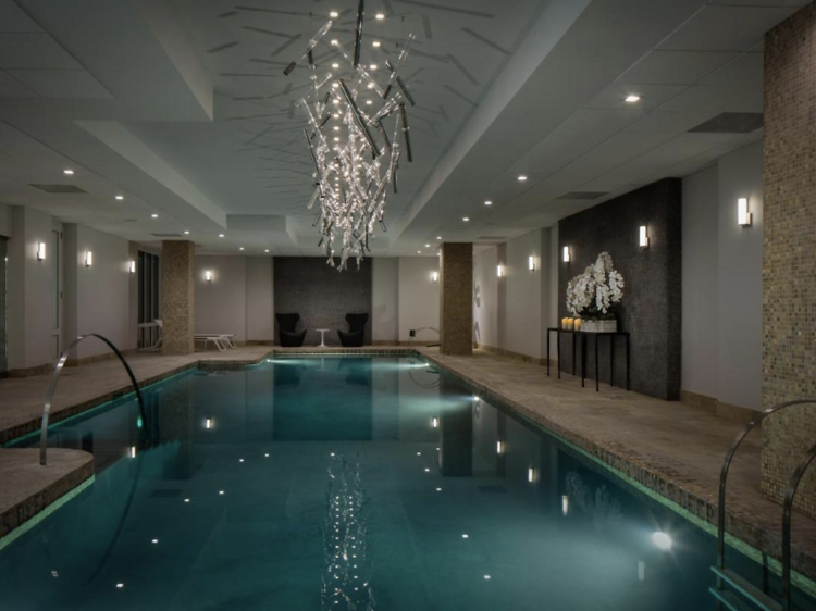
<instances>
[{"instance_id":1,"label":"dark turquoise water filling the indoor pool","mask_svg":"<svg viewBox=\"0 0 816 611\"><path fill-rule=\"evenodd\" d=\"M144 422L127 400L51 428L97 477L0 551L0 609L716 608L714 537L416 359L275 359L145 397Z\"/></svg>"}]
</instances>

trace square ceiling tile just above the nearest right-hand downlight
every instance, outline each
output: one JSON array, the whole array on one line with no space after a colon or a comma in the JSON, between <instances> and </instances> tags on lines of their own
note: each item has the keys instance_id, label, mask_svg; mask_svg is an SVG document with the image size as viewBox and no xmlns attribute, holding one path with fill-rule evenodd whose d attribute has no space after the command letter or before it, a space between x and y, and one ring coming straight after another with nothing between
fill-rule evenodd
<instances>
[{"instance_id":1,"label":"square ceiling tile just above the nearest right-hand downlight","mask_svg":"<svg viewBox=\"0 0 816 611\"><path fill-rule=\"evenodd\" d=\"M693 85L718 67L739 58L733 51L655 50L618 78L620 83Z\"/></svg>"}]
</instances>

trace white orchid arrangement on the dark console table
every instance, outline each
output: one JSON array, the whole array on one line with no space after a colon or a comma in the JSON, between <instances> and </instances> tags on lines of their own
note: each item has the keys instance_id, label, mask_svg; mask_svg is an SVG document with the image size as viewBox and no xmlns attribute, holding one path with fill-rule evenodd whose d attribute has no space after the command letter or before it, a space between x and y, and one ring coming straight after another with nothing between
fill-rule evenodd
<instances>
[{"instance_id":1,"label":"white orchid arrangement on the dark console table","mask_svg":"<svg viewBox=\"0 0 816 611\"><path fill-rule=\"evenodd\" d=\"M602 252L594 264L567 285L567 309L574 316L604 319L623 297L623 276L613 266L611 255Z\"/></svg>"}]
</instances>

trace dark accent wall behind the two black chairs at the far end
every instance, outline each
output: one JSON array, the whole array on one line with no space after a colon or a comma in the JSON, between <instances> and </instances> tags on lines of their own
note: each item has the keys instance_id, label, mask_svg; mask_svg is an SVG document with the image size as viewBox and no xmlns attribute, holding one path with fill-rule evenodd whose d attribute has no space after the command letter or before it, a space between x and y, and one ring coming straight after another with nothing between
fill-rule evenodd
<instances>
[{"instance_id":1,"label":"dark accent wall behind the two black chairs at the far end","mask_svg":"<svg viewBox=\"0 0 816 611\"><path fill-rule=\"evenodd\" d=\"M322 257L275 257L274 287L275 313L297 312L298 331L309 329L304 346L320 344L317 328L332 329L325 334L325 342L339 346L336 329L348 331L348 313L369 314L364 344L371 344L370 259L363 260L359 270L350 262L348 270L338 272L326 265Z\"/></svg>"}]
</instances>

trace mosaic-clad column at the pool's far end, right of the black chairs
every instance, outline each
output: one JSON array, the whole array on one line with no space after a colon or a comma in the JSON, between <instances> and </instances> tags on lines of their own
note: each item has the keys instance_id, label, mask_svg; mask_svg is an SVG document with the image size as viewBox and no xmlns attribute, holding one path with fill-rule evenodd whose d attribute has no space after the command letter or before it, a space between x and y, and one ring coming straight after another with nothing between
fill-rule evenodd
<instances>
[{"instance_id":1,"label":"mosaic-clad column at the pool's far end, right of the black chairs","mask_svg":"<svg viewBox=\"0 0 816 611\"><path fill-rule=\"evenodd\" d=\"M442 354L473 353L473 245L443 244L440 255Z\"/></svg>"}]
</instances>

